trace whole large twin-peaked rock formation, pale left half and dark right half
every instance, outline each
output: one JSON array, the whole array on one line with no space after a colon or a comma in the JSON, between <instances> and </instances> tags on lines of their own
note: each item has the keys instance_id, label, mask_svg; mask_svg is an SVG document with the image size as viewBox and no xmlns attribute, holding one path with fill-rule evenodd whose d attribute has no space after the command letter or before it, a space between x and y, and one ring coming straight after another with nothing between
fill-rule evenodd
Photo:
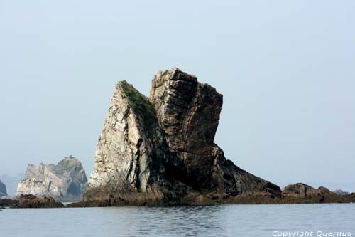
<instances>
[{"instance_id":1,"label":"whole large twin-peaked rock formation, pale left half and dark right half","mask_svg":"<svg viewBox=\"0 0 355 237\"><path fill-rule=\"evenodd\" d=\"M236 167L214 144L223 97L178 68L158 72L150 97L126 81L114 96L82 206L215 204L278 186Z\"/></svg>"}]
</instances>

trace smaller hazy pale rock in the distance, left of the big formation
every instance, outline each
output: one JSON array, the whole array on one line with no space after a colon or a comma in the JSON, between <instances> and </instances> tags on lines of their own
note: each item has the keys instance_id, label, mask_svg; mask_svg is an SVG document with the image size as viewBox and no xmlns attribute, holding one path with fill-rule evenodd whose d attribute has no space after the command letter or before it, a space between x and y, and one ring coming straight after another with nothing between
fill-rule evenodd
<instances>
[{"instance_id":1,"label":"smaller hazy pale rock in the distance, left of the big formation","mask_svg":"<svg viewBox=\"0 0 355 237\"><path fill-rule=\"evenodd\" d=\"M87 177L81 162L65 157L57 165L28 165L26 178L17 188L17 195L52 196L60 201L77 201L86 191Z\"/></svg>"}]
</instances>

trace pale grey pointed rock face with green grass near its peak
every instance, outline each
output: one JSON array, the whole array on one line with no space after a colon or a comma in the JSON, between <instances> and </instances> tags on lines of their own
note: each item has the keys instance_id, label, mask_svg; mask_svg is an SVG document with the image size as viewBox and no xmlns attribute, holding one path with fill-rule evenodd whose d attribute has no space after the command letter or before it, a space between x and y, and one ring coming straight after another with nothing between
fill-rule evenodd
<instances>
[{"instance_id":1,"label":"pale grey pointed rock face with green grass near its peak","mask_svg":"<svg viewBox=\"0 0 355 237\"><path fill-rule=\"evenodd\" d=\"M148 98L126 81L117 83L97 143L86 198L119 194L139 203L155 203L166 193L175 196L173 184L165 177L168 154L164 142Z\"/></svg>"}]
</instances>

